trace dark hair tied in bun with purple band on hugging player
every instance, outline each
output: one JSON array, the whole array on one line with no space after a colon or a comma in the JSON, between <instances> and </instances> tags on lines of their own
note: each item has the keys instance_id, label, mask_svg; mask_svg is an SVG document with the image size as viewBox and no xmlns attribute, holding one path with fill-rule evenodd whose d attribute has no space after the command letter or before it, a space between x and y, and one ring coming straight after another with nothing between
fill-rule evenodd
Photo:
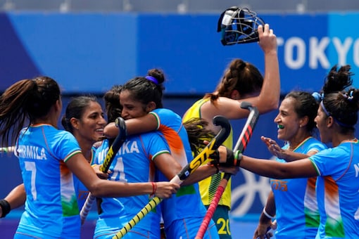
<instances>
[{"instance_id":1,"label":"dark hair tied in bun with purple band on hugging player","mask_svg":"<svg viewBox=\"0 0 359 239\"><path fill-rule=\"evenodd\" d=\"M156 103L156 108L163 108L162 96L165 87L165 75L161 70L151 69L146 77L135 77L122 85L122 91L131 91L132 98L143 104L151 101ZM151 78L152 77L152 78ZM153 78L156 82L153 81Z\"/></svg>"}]
</instances>

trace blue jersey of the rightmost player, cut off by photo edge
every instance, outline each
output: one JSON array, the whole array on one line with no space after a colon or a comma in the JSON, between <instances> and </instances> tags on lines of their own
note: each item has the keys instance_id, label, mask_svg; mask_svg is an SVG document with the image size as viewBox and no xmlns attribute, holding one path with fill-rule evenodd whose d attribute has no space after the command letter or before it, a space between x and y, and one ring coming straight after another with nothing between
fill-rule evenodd
<instances>
[{"instance_id":1,"label":"blue jersey of the rightmost player, cut off by photo edge","mask_svg":"<svg viewBox=\"0 0 359 239\"><path fill-rule=\"evenodd\" d=\"M317 169L317 238L359 238L359 143L342 142L310 157Z\"/></svg>"}]
</instances>

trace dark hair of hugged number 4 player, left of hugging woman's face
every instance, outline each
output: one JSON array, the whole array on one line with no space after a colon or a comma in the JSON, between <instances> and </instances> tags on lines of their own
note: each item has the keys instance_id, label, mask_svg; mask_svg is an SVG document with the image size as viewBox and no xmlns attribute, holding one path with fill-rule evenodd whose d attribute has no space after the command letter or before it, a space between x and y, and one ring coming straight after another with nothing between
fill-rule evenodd
<instances>
[{"instance_id":1,"label":"dark hair of hugged number 4 player, left of hugging woman's face","mask_svg":"<svg viewBox=\"0 0 359 239\"><path fill-rule=\"evenodd\" d=\"M103 95L108 122L115 122L117 117L121 117L122 105L120 104L120 92L122 86L114 85Z\"/></svg>"}]
</instances>

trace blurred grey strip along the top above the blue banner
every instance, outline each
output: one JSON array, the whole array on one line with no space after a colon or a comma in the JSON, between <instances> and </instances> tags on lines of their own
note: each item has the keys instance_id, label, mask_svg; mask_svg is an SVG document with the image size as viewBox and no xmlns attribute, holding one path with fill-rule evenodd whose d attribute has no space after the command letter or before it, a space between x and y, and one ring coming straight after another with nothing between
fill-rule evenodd
<instances>
[{"instance_id":1,"label":"blurred grey strip along the top above the blue banner","mask_svg":"<svg viewBox=\"0 0 359 239\"><path fill-rule=\"evenodd\" d=\"M4 11L103 11L210 13L229 6L256 9L258 12L303 13L358 11L356 0L1 0Z\"/></svg>"}]
</instances>

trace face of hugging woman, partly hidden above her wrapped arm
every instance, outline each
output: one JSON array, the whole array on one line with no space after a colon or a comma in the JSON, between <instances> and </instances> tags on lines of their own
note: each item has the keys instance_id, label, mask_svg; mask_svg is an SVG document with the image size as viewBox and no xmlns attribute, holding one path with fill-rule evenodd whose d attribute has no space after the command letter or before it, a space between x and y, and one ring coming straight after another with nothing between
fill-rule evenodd
<instances>
[{"instance_id":1,"label":"face of hugging woman, partly hidden above her wrapped arm","mask_svg":"<svg viewBox=\"0 0 359 239\"><path fill-rule=\"evenodd\" d=\"M131 96L131 91L122 90L120 93L120 103L122 105L122 117L125 120L137 118L146 115L153 110L151 103L144 105L139 101L135 101Z\"/></svg>"}]
</instances>

